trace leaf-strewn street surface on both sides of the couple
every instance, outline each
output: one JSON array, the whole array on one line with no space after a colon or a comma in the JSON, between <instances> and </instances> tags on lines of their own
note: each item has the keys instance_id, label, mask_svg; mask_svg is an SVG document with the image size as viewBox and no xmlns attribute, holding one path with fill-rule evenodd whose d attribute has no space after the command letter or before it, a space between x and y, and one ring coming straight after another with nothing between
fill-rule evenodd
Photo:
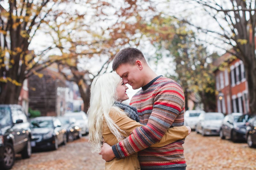
<instances>
[{"instance_id":1,"label":"leaf-strewn street surface on both sides of the couple","mask_svg":"<svg viewBox=\"0 0 256 170\"><path fill-rule=\"evenodd\" d=\"M256 169L256 149L246 143L203 137L193 131L183 146L187 170ZM29 159L17 154L16 159L12 170L98 170L104 169L105 162L90 151L87 136L60 146L57 151L33 152Z\"/></svg>"}]
</instances>

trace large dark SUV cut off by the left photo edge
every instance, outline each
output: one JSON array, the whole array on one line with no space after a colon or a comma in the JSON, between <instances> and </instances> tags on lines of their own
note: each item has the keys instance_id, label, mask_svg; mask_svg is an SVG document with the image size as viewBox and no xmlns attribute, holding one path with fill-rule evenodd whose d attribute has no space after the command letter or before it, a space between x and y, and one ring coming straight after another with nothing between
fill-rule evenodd
<instances>
[{"instance_id":1,"label":"large dark SUV cut off by the left photo edge","mask_svg":"<svg viewBox=\"0 0 256 170\"><path fill-rule=\"evenodd\" d=\"M20 105L0 105L0 169L11 169L15 154L31 156L31 129Z\"/></svg>"}]
</instances>

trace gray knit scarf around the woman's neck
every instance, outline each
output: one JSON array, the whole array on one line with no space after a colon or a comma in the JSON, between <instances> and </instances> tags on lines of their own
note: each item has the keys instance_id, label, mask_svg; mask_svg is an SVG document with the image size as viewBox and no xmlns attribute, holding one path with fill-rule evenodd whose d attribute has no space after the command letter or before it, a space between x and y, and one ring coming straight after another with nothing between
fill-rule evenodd
<instances>
[{"instance_id":1,"label":"gray knit scarf around the woman's neck","mask_svg":"<svg viewBox=\"0 0 256 170\"><path fill-rule=\"evenodd\" d=\"M132 120L135 120L136 122L140 122L138 111L136 107L126 105L124 103L120 103L118 101L115 101L114 105L116 107L119 107L120 109L124 110L125 113L127 113L127 116L131 118Z\"/></svg>"}]
</instances>

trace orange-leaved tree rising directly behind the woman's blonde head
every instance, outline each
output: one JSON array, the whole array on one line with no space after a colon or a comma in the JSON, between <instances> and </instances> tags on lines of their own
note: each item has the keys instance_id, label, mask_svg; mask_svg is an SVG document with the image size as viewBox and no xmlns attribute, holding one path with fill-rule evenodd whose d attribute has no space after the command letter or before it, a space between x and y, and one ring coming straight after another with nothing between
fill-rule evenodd
<instances>
[{"instance_id":1,"label":"orange-leaved tree rising directly behind the woman's blonde head","mask_svg":"<svg viewBox=\"0 0 256 170\"><path fill-rule=\"evenodd\" d=\"M78 85L84 112L89 107L89 89L93 78L112 71L109 65L121 48L140 44L146 18L149 14L155 15L155 9L151 7L154 5L149 3L148 0L125 0L119 4L91 2L93 12L90 20L86 20L88 15L84 13L84 17L64 14L60 15L63 19L53 20L51 31L45 31L54 44L61 47L61 55L52 55L51 58L70 58L58 62L59 72ZM147 15L145 12L148 12Z\"/></svg>"}]
</instances>

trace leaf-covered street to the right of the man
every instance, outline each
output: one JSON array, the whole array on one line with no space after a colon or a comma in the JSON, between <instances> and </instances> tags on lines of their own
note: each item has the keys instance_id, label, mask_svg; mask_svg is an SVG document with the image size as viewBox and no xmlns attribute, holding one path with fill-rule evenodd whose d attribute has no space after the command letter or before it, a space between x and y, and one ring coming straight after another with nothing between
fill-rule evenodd
<instances>
[{"instance_id":1,"label":"leaf-covered street to the right of the man","mask_svg":"<svg viewBox=\"0 0 256 170\"><path fill-rule=\"evenodd\" d=\"M244 142L234 143L218 136L203 137L193 131L183 146L187 170L256 169L256 149Z\"/></svg>"}]
</instances>

